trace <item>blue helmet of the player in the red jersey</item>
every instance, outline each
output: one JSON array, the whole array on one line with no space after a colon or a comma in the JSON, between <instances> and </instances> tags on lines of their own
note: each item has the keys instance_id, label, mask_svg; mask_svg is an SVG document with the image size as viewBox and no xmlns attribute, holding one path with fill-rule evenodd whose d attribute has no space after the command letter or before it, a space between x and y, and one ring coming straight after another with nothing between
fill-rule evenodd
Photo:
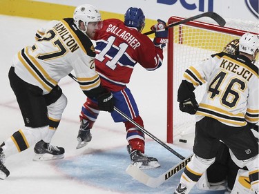
<instances>
[{"instance_id":1,"label":"blue helmet of the player in the red jersey","mask_svg":"<svg viewBox=\"0 0 259 194\"><path fill-rule=\"evenodd\" d=\"M128 8L124 15L124 24L129 27L137 28L139 32L142 32L145 26L145 16L140 8Z\"/></svg>"}]
</instances>

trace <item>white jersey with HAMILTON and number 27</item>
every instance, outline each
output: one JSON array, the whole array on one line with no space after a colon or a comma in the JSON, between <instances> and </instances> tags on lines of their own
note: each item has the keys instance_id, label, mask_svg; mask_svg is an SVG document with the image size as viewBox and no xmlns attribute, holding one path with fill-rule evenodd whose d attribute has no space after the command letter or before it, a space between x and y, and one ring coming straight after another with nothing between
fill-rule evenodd
<instances>
[{"instance_id":1,"label":"white jersey with HAMILTON and number 27","mask_svg":"<svg viewBox=\"0 0 259 194\"><path fill-rule=\"evenodd\" d=\"M73 18L50 21L37 31L33 46L19 51L13 59L15 73L47 94L72 70L83 91L100 86L95 72L93 43L78 30Z\"/></svg>"}]
</instances>

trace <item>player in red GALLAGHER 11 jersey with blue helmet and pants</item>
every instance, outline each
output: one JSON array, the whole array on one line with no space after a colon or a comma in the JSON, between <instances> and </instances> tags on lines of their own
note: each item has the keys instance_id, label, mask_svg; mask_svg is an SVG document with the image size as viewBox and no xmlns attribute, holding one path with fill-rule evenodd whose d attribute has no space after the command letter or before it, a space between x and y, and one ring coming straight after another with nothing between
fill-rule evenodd
<instances>
[{"instance_id":1,"label":"player in red GALLAGHER 11 jersey with blue helmet and pants","mask_svg":"<svg viewBox=\"0 0 259 194\"><path fill-rule=\"evenodd\" d=\"M97 55L95 57L96 70L101 77L102 86L111 91L115 99L115 106L140 126L144 126L139 115L137 104L131 90L127 88L134 66L139 63L146 70L156 70L162 65L163 48L168 40L166 23L157 20L151 29L155 32L153 42L146 35L142 35L145 17L140 8L128 8L124 15L124 22L119 19L106 19L103 28L95 33ZM77 148L90 142L90 129L99 115L98 104L87 98L81 109L81 126L77 140ZM157 159L144 155L145 137L131 122L122 118L117 112L111 113L114 122L124 122L128 153L131 162L140 168L160 166Z\"/></svg>"}]
</instances>

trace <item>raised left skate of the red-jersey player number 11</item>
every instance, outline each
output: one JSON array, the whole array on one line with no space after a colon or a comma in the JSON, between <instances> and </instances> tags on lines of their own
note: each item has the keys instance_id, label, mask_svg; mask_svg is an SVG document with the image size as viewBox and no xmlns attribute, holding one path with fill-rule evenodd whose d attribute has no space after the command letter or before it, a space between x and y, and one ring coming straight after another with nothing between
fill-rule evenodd
<instances>
[{"instance_id":1,"label":"raised left skate of the red-jersey player number 11","mask_svg":"<svg viewBox=\"0 0 259 194\"><path fill-rule=\"evenodd\" d=\"M90 140L92 140L90 128L87 128L88 124L89 123L85 119L81 120L81 125L80 125L78 135L77 135L77 141L78 141L77 149L86 146L88 144L88 142L90 142Z\"/></svg>"}]
</instances>

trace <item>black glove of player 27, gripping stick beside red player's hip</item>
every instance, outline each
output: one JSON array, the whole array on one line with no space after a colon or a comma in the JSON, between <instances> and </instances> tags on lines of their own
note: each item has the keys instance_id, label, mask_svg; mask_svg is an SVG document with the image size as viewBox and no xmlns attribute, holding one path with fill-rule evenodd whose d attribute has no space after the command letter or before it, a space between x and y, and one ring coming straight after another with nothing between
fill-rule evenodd
<instances>
[{"instance_id":1,"label":"black glove of player 27, gripping stick beside red player's hip","mask_svg":"<svg viewBox=\"0 0 259 194\"><path fill-rule=\"evenodd\" d=\"M99 110L113 112L114 99L113 94L110 92L103 93L97 97Z\"/></svg>"}]
</instances>

